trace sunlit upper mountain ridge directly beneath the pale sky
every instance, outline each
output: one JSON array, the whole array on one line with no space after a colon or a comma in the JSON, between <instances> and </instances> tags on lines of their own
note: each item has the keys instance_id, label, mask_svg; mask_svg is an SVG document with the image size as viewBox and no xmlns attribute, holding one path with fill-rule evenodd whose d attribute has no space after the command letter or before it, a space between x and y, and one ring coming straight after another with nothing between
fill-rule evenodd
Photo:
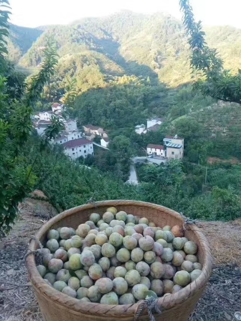
<instances>
[{"instance_id":1,"label":"sunlit upper mountain ridge directly beneath the pale sky","mask_svg":"<svg viewBox=\"0 0 241 321\"><path fill-rule=\"evenodd\" d=\"M82 18L68 25L42 26L36 30L38 37L27 52L22 50L23 55L18 60L22 67L36 67L40 63L38 48L46 44L48 35L54 38L60 58L86 50L92 54L95 51L119 65L125 74L158 77L160 82L171 87L191 80L190 51L182 23L162 13L144 15L124 11L106 17ZM208 27L206 30L208 44L218 48L225 67L237 69L241 64L241 30L229 26ZM64 39L60 39L61 36Z\"/></svg>"}]
</instances>

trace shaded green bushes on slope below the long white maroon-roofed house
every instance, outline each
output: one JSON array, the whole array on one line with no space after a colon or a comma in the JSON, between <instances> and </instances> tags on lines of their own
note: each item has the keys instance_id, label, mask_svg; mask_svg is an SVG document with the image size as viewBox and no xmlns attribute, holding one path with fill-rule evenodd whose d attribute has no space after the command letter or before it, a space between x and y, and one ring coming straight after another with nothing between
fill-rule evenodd
<instances>
[{"instance_id":1,"label":"shaded green bushes on slope below the long white maroon-roofed house","mask_svg":"<svg viewBox=\"0 0 241 321\"><path fill-rule=\"evenodd\" d=\"M27 144L25 159L31 162L38 152L38 139ZM105 174L97 169L87 169L79 163L70 161L59 150L46 149L36 160L33 169L38 177L37 187L44 191L51 203L61 211L87 203L90 199L137 199L137 191L114 175Z\"/></svg>"}]
</instances>

